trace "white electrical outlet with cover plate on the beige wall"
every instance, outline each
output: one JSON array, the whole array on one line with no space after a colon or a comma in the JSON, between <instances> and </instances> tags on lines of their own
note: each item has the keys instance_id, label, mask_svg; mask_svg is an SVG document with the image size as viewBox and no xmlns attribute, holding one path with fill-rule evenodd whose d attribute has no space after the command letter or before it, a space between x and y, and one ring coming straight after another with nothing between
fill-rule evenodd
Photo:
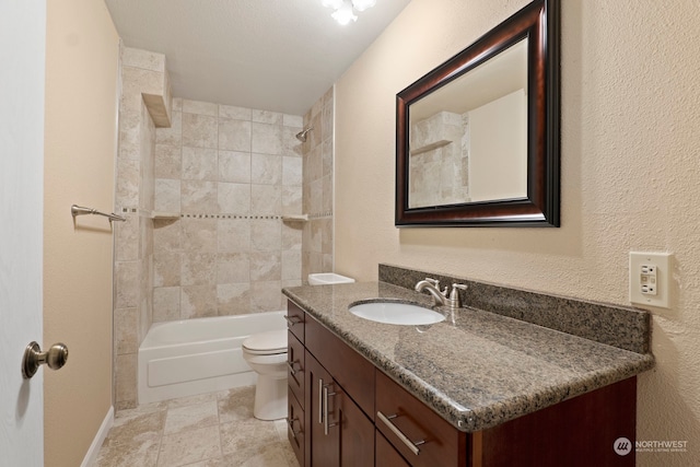
<instances>
[{"instance_id":1,"label":"white electrical outlet with cover plate on the beige wall","mask_svg":"<svg viewBox=\"0 0 700 467\"><path fill-rule=\"evenodd\" d=\"M630 252L630 302L668 308L670 254Z\"/></svg>"}]
</instances>

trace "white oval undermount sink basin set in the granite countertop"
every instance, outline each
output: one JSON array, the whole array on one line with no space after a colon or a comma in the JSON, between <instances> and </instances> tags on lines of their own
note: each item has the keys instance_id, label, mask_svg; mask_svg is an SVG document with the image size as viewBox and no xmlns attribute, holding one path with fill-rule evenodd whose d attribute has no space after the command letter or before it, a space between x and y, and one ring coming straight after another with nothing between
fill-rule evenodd
<instances>
[{"instance_id":1,"label":"white oval undermount sink basin set in the granite countertop","mask_svg":"<svg viewBox=\"0 0 700 467\"><path fill-rule=\"evenodd\" d=\"M445 319L444 315L418 305L398 302L370 302L351 305L350 313L364 319L389 325L432 325Z\"/></svg>"}]
</instances>

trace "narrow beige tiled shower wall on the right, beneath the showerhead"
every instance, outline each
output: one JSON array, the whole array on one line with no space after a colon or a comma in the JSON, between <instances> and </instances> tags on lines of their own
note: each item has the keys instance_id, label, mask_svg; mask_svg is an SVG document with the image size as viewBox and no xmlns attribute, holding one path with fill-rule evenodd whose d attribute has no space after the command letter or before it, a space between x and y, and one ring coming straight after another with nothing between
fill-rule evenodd
<instances>
[{"instance_id":1,"label":"narrow beige tiled shower wall on the right, beneath the showerhead","mask_svg":"<svg viewBox=\"0 0 700 467\"><path fill-rule=\"evenodd\" d=\"M329 89L304 116L304 128L313 127L302 144L304 155L303 207L310 221L304 225L302 278L331 272L332 261L332 154L334 89Z\"/></svg>"}]
</instances>

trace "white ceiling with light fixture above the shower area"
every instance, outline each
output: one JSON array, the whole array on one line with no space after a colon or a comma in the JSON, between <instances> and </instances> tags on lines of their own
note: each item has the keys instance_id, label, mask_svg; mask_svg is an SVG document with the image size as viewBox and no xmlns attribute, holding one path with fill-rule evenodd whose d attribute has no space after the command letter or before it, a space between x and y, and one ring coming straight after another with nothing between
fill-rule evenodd
<instances>
[{"instance_id":1,"label":"white ceiling with light fixture above the shower area","mask_svg":"<svg viewBox=\"0 0 700 467\"><path fill-rule=\"evenodd\" d=\"M105 0L127 47L165 54L173 94L303 115L410 0L341 26L322 0Z\"/></svg>"}]
</instances>

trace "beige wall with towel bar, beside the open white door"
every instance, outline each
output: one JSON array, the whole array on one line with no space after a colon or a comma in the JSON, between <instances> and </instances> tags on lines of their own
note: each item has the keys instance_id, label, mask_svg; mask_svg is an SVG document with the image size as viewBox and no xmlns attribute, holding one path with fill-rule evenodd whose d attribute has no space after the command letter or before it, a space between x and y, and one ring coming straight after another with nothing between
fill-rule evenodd
<instances>
[{"instance_id":1,"label":"beige wall with towel bar, beside the open white door","mask_svg":"<svg viewBox=\"0 0 700 467\"><path fill-rule=\"evenodd\" d=\"M72 467L112 406L112 232L70 206L113 206L119 39L102 1L47 8L43 346L70 358L44 370L44 442L47 466Z\"/></svg>"}]
</instances>

